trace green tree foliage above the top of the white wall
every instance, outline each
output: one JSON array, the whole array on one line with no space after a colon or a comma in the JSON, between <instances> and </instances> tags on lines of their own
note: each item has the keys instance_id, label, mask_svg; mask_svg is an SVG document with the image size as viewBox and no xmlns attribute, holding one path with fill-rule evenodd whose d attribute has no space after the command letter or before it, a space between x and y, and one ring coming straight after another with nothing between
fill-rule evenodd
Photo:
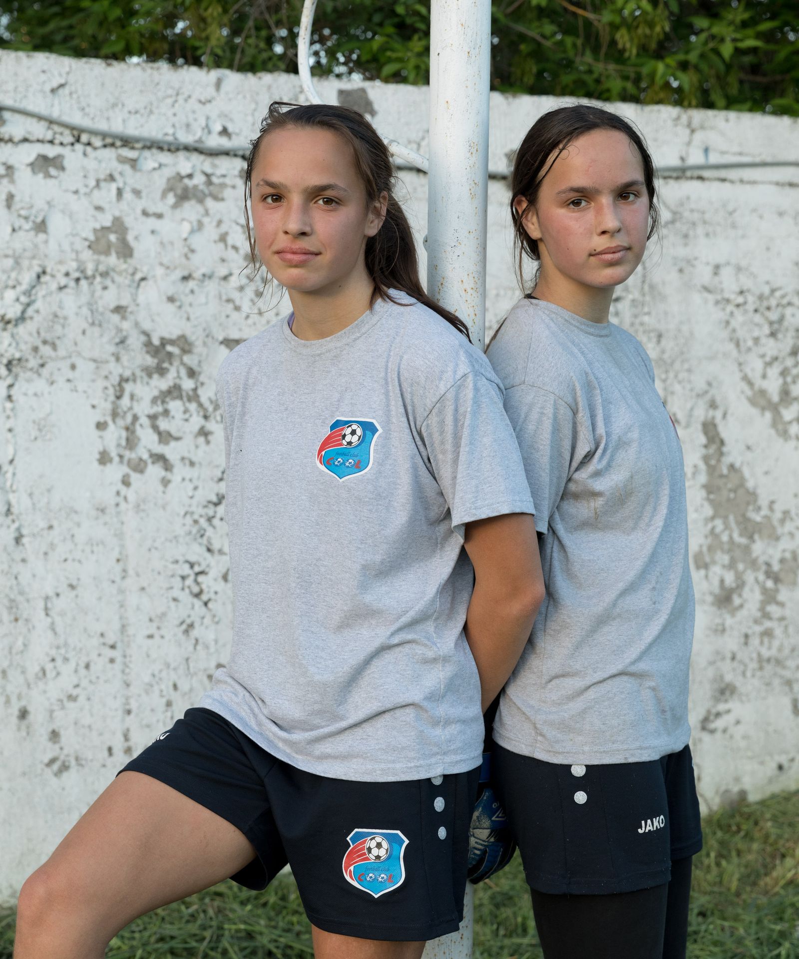
<instances>
[{"instance_id":1,"label":"green tree foliage above the top of the white wall","mask_svg":"<svg viewBox=\"0 0 799 959\"><path fill-rule=\"evenodd\" d=\"M296 70L301 0L0 0L0 48ZM319 0L319 73L428 79L430 0ZM795 0L495 0L497 90L799 115Z\"/></svg>"}]
</instances>

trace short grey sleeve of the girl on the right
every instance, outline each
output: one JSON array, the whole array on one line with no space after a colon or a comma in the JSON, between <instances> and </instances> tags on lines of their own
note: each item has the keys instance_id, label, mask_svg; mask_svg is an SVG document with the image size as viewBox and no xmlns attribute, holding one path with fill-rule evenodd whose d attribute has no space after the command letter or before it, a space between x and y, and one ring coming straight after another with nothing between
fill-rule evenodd
<instances>
[{"instance_id":1,"label":"short grey sleeve of the girl on the right","mask_svg":"<svg viewBox=\"0 0 799 959\"><path fill-rule=\"evenodd\" d=\"M566 481L590 446L571 407L540 386L512 386L505 392L505 410L536 504L535 528L546 533Z\"/></svg>"}]
</instances>

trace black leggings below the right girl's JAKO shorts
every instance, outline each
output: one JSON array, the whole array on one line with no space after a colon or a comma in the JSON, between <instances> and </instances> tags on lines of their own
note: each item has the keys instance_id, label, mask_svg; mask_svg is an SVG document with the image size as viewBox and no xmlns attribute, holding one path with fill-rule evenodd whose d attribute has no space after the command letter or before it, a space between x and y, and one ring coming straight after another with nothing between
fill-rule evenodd
<instances>
[{"instance_id":1,"label":"black leggings below the right girl's JAKO shorts","mask_svg":"<svg viewBox=\"0 0 799 959\"><path fill-rule=\"evenodd\" d=\"M532 890L545 959L685 959L693 856L671 863L671 880L606 896Z\"/></svg>"}]
</instances>

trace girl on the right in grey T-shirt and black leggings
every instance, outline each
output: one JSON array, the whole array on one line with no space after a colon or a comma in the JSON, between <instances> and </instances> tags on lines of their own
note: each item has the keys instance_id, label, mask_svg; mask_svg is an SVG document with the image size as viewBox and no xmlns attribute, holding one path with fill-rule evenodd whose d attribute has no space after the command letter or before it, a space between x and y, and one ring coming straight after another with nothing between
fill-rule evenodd
<instances>
[{"instance_id":1,"label":"girl on the right in grey T-shirt and black leggings","mask_svg":"<svg viewBox=\"0 0 799 959\"><path fill-rule=\"evenodd\" d=\"M496 719L498 791L546 959L677 959L701 848L683 458L646 350L608 318L656 230L652 159L621 117L555 109L511 193L537 273L488 356L547 595Z\"/></svg>"}]
</instances>

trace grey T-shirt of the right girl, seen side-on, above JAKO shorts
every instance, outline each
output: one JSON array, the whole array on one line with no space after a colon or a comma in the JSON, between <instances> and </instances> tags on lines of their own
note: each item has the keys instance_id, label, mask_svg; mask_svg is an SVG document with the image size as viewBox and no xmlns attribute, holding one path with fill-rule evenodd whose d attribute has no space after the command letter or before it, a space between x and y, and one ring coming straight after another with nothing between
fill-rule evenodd
<instances>
[{"instance_id":1,"label":"grey T-shirt of the right girl, seen side-on, above JAKO shorts","mask_svg":"<svg viewBox=\"0 0 799 959\"><path fill-rule=\"evenodd\" d=\"M561 763L676 752L691 732L685 476L646 351L613 323L522 300L488 358L545 534L547 587L495 737Z\"/></svg>"}]
</instances>

